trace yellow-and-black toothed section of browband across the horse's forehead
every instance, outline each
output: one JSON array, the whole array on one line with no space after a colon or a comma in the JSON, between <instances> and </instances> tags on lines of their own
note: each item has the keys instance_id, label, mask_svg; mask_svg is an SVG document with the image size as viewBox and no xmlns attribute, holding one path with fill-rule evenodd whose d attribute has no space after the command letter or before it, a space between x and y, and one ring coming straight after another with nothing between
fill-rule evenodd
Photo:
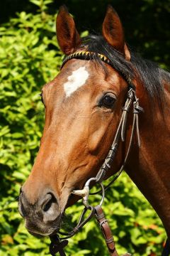
<instances>
[{"instance_id":1,"label":"yellow-and-black toothed section of browband across the horse's forehead","mask_svg":"<svg viewBox=\"0 0 170 256\"><path fill-rule=\"evenodd\" d=\"M111 61L106 58L105 55L102 55L100 53L94 53L89 51L78 51L76 53L72 53L68 56L66 56L62 62L61 68L64 66L65 63L67 63L68 60L71 60L72 58L78 58L81 60L95 60L95 58L100 58L103 62L107 64L111 64Z\"/></svg>"}]
</instances>

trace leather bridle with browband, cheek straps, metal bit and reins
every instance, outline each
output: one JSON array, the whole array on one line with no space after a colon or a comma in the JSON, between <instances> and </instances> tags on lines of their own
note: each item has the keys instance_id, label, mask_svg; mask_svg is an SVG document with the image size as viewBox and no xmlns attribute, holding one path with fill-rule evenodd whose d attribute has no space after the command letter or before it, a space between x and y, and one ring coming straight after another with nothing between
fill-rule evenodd
<instances>
[{"instance_id":1,"label":"leather bridle with browband, cheek straps, metal bit and reins","mask_svg":"<svg viewBox=\"0 0 170 256\"><path fill-rule=\"evenodd\" d=\"M64 66L65 63L67 63L68 60L70 60L72 58L78 58L78 59L83 59L83 60L95 60L96 58L99 58L101 61L103 61L113 67L113 65L111 64L111 61L108 60L108 58L106 58L106 56L101 55L99 53L89 52L89 51L79 51L77 53L68 55L66 58L64 58L62 67ZM118 72L120 73L120 71L118 71ZM125 167L125 164L128 159L130 149L132 146L132 139L134 137L135 131L137 134L137 144L140 147L140 132L139 132L140 130L139 130L138 114L140 114L140 112L143 112L142 107L140 107L140 105L139 105L139 99L136 97L135 85L131 82L130 78L127 77L127 75L125 75L125 73L120 73L120 74L123 75L123 78L125 78L126 82L128 83L128 93L127 93L127 97L125 100L125 105L123 106L123 113L121 115L117 131L115 133L115 138L113 140L113 144L111 145L111 148L108 151L108 155L106 156L106 159L105 159L103 165L101 166L101 168L99 169L96 177L89 178L89 180L86 181L84 188L82 190L72 191L73 194L75 194L77 196L81 196L83 198L84 210L81 213L81 216L79 218L79 222L78 222L77 226L75 228L73 228L71 232L63 233L63 232L59 231L56 235L50 235L50 240L51 240L50 254L52 256L55 256L57 252L60 253L60 256L66 256L64 249L63 249L68 244L68 240L66 240L66 239L71 238L73 235L78 233L80 228L82 228L87 222L89 222L89 220L92 217L96 218L98 225L101 228L103 237L104 237L104 239L106 241L106 245L108 247L109 255L118 256L118 252L115 250L115 242L113 240L111 228L108 225L108 220L106 220L101 206L102 206L102 203L103 203L103 200L105 197L106 189L108 189L109 186L111 186L111 184L115 182L115 180L120 176L120 174L122 173L122 171ZM131 129L131 134L130 134L130 142L128 145L127 153L125 155L125 159L123 161L122 166L120 167L120 170L117 172L117 174L115 174L112 181L110 183L108 183L107 186L104 187L102 182L104 179L106 179L106 173L108 172L109 169L111 169L111 166L113 165L113 160L115 159L115 154L118 151L119 142L120 142L120 140L122 140L123 142L125 141L125 131L126 131L125 128L126 128L126 123L127 123L127 119L128 119L128 112L130 111L131 107L133 109L132 129ZM101 190L96 192L96 193L102 193L101 202L97 206L89 205L89 195L96 194L96 193L90 193L91 182L93 182L93 185L94 185L94 183L96 183L101 186ZM85 218L85 214L87 211L89 211L89 215ZM60 238L59 234L64 235L64 237ZM168 244L168 242L166 241L165 248L168 246L167 244ZM165 253L164 253L164 251L165 251ZM162 256L169 255L169 254L167 254L167 250L164 250L164 251L162 253ZM169 253L169 250L168 250L168 253ZM128 256L130 254L125 253L125 255Z\"/></svg>"}]
</instances>

